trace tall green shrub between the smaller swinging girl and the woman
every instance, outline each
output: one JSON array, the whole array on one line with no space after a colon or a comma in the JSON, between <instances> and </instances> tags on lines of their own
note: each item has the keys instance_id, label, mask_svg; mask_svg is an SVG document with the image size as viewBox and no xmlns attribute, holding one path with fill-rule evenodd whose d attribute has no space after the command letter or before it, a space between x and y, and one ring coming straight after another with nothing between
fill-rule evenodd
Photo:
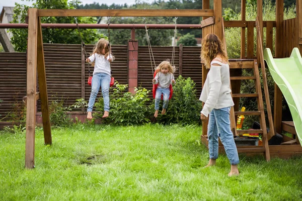
<instances>
[{"instance_id":1,"label":"tall green shrub between the smaller swinging girl and the woman","mask_svg":"<svg viewBox=\"0 0 302 201\"><path fill-rule=\"evenodd\" d=\"M169 101L167 113L159 115L159 123L189 125L200 122L201 102L196 98L194 81L181 75L173 86L173 96ZM162 102L161 102L162 104ZM162 105L160 106L162 108Z\"/></svg>"}]
</instances>

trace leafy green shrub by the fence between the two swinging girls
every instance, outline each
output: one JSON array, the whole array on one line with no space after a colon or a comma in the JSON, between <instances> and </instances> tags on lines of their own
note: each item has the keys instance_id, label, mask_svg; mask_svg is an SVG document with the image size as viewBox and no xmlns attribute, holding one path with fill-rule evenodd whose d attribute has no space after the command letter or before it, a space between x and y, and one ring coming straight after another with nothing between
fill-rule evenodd
<instances>
[{"instance_id":1,"label":"leafy green shrub by the fence between the two swinging girls","mask_svg":"<svg viewBox=\"0 0 302 201\"><path fill-rule=\"evenodd\" d=\"M110 115L105 119L106 123L114 125L141 125L149 122L149 109L147 102L149 100L149 91L145 88L135 88L136 93L124 92L126 84L115 82L116 88L110 94ZM103 98L99 98L95 104L95 117L99 118L104 112Z\"/></svg>"}]
</instances>

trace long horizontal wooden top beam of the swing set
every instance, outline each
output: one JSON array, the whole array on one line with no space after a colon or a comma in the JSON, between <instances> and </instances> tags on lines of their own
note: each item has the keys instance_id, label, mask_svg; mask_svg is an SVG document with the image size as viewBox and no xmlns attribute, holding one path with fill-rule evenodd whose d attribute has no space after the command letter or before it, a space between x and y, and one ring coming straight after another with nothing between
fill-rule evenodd
<instances>
[{"instance_id":1,"label":"long horizontal wooden top beam of the swing set","mask_svg":"<svg viewBox=\"0 0 302 201\"><path fill-rule=\"evenodd\" d=\"M221 7L221 5L220 5ZM221 15L221 13L220 13ZM202 17L214 16L212 9L39 9L39 17Z\"/></svg>"}]
</instances>

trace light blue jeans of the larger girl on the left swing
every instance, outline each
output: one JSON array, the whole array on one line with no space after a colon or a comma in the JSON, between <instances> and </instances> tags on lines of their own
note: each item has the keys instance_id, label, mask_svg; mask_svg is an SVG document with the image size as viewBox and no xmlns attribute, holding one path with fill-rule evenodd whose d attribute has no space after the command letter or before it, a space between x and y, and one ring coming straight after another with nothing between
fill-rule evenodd
<instances>
[{"instance_id":1,"label":"light blue jeans of the larger girl on the left swing","mask_svg":"<svg viewBox=\"0 0 302 201\"><path fill-rule=\"evenodd\" d=\"M102 95L104 99L104 111L109 112L109 85L110 85L110 75L107 73L96 73L92 77L91 83L91 94L88 103L87 112L92 112L93 105L96 101L96 97L102 87Z\"/></svg>"}]
</instances>

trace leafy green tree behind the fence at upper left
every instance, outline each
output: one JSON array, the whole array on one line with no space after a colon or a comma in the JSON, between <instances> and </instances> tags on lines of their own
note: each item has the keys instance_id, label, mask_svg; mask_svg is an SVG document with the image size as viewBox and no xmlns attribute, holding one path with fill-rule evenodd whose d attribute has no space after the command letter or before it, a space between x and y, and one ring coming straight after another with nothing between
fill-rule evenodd
<instances>
[{"instance_id":1,"label":"leafy green tree behind the fence at upper left","mask_svg":"<svg viewBox=\"0 0 302 201\"><path fill-rule=\"evenodd\" d=\"M24 1L24 0L22 0ZM37 9L74 9L79 5L80 1L72 0L67 3L67 0L27 0L33 2L32 6L17 4L14 8L14 17L12 23L25 23L25 17L29 8ZM78 23L95 23L96 18L78 17ZM42 17L41 23L66 23L74 24L75 19L72 17ZM15 45L15 50L25 52L27 49L27 29L10 29L13 33L11 39ZM61 43L61 44L81 44L81 39L77 29L42 29L43 43ZM104 37L99 34L96 29L82 29L81 35L86 44L95 43L99 38Z\"/></svg>"}]
</instances>

